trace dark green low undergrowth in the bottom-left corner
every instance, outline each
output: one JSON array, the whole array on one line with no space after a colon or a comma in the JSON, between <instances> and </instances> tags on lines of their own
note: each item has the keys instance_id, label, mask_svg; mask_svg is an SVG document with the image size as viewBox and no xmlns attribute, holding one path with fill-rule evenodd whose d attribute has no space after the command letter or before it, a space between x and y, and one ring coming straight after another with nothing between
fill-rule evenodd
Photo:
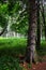
<instances>
[{"instance_id":1,"label":"dark green low undergrowth in the bottom-left corner","mask_svg":"<svg viewBox=\"0 0 46 70\"><path fill-rule=\"evenodd\" d=\"M22 68L18 58L5 55L0 57L0 70L22 70Z\"/></svg>"}]
</instances>

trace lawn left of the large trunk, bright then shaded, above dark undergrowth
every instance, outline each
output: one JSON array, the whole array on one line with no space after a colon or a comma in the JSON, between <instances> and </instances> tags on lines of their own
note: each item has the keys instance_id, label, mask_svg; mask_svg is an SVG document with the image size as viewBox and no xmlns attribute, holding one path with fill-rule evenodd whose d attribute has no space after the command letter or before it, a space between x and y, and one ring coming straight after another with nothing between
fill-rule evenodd
<instances>
[{"instance_id":1,"label":"lawn left of the large trunk, bright then shaded, above dark undergrowth","mask_svg":"<svg viewBox=\"0 0 46 70\"><path fill-rule=\"evenodd\" d=\"M0 54L18 55L25 54L27 40L26 39L0 39Z\"/></svg>"}]
</instances>

